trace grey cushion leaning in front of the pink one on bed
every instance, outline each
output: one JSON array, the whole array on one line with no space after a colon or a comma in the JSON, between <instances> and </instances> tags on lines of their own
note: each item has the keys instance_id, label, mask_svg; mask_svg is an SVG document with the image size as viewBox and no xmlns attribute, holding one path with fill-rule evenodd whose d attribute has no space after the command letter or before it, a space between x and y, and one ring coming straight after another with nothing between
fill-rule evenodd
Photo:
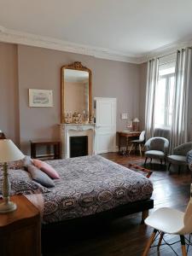
<instances>
[{"instance_id":1,"label":"grey cushion leaning in front of the pink one on bed","mask_svg":"<svg viewBox=\"0 0 192 256\"><path fill-rule=\"evenodd\" d=\"M38 167L28 165L27 170L32 175L32 179L37 183L42 184L46 188L55 187L55 184L52 181L52 179L45 172L42 172L40 169L38 169Z\"/></svg>"}]
</instances>

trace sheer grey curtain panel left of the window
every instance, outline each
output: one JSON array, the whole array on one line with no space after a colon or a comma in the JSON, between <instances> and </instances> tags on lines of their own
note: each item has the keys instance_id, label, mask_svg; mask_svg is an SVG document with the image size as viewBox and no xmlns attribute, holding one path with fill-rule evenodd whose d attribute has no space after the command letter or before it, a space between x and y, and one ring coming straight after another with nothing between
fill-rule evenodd
<instances>
[{"instance_id":1,"label":"sheer grey curtain panel left of the window","mask_svg":"<svg viewBox=\"0 0 192 256\"><path fill-rule=\"evenodd\" d=\"M158 82L159 59L148 61L148 76L145 102L145 131L146 139L154 135L154 101L155 89Z\"/></svg>"}]
</instances>

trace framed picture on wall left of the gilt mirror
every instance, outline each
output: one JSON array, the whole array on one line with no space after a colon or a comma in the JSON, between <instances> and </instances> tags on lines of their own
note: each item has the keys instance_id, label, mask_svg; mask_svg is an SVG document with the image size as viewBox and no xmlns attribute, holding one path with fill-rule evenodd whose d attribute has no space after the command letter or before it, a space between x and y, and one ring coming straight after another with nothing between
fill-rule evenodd
<instances>
[{"instance_id":1,"label":"framed picture on wall left of the gilt mirror","mask_svg":"<svg viewBox=\"0 0 192 256\"><path fill-rule=\"evenodd\" d=\"M29 107L53 107L53 90L29 89Z\"/></svg>"}]
</instances>

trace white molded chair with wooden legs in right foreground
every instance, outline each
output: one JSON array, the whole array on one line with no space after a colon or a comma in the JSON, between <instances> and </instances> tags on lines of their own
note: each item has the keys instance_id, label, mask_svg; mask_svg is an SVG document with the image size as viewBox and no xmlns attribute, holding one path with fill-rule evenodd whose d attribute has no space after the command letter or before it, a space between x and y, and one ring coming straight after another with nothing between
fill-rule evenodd
<instances>
[{"instance_id":1,"label":"white molded chair with wooden legs in right foreground","mask_svg":"<svg viewBox=\"0 0 192 256\"><path fill-rule=\"evenodd\" d=\"M190 185L190 200L185 212L180 212L172 208L163 207L152 213L145 219L145 224L154 229L150 236L143 256L148 255L148 251L154 242L156 233L160 233L160 240L157 248L160 248L161 241L165 234L179 235L182 247L182 255L186 256L184 235L192 233L192 184Z\"/></svg>"}]
</instances>

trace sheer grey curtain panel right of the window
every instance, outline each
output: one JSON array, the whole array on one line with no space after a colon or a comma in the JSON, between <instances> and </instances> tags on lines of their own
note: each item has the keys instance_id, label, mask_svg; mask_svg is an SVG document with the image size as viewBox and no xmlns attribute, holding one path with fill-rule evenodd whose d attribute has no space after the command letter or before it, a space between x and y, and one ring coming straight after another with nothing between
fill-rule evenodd
<instances>
[{"instance_id":1,"label":"sheer grey curtain panel right of the window","mask_svg":"<svg viewBox=\"0 0 192 256\"><path fill-rule=\"evenodd\" d=\"M191 85L192 49L177 50L175 93L173 98L171 151L189 141L189 84Z\"/></svg>"}]
</instances>

